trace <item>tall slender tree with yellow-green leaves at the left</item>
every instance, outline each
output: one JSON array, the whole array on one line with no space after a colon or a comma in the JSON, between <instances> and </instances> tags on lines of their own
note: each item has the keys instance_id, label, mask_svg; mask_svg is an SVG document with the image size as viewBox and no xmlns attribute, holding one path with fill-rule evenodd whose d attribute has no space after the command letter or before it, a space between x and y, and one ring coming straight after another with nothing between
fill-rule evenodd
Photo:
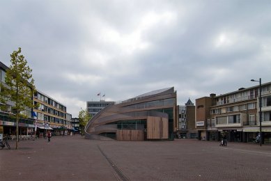
<instances>
[{"instance_id":1,"label":"tall slender tree with yellow-green leaves at the left","mask_svg":"<svg viewBox=\"0 0 271 181\"><path fill-rule=\"evenodd\" d=\"M31 117L33 109L33 93L36 92L32 70L27 65L26 59L21 54L21 48L10 54L10 67L6 70L5 85L1 83L1 109L10 107L10 115L16 118L16 149L19 142L19 120Z\"/></svg>"}]
</instances>

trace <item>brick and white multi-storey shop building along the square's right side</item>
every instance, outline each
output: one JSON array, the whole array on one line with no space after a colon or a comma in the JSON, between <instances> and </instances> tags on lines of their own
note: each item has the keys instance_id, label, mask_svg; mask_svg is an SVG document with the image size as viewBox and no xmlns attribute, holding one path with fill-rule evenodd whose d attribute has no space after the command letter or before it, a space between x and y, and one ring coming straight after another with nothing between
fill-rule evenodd
<instances>
[{"instance_id":1,"label":"brick and white multi-storey shop building along the square's right side","mask_svg":"<svg viewBox=\"0 0 271 181\"><path fill-rule=\"evenodd\" d=\"M261 95L262 143L271 143L271 82L262 84ZM199 111L204 107L197 101L196 121L202 124L197 125L197 129L199 132L205 132L208 140L219 141L222 136L226 136L228 141L255 141L260 131L259 86L240 88L238 91L206 99L212 106ZM204 111L205 116L202 113Z\"/></svg>"}]
</instances>

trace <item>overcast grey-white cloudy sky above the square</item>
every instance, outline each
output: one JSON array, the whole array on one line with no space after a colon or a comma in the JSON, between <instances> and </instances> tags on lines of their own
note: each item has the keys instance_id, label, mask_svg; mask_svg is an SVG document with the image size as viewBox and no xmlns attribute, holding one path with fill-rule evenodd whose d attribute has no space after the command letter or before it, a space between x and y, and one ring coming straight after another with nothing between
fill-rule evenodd
<instances>
[{"instance_id":1,"label":"overcast grey-white cloudy sky above the square","mask_svg":"<svg viewBox=\"0 0 271 181\"><path fill-rule=\"evenodd\" d=\"M0 61L22 47L36 88L86 101L174 86L178 104L271 81L271 1L0 1Z\"/></svg>"}]
</instances>

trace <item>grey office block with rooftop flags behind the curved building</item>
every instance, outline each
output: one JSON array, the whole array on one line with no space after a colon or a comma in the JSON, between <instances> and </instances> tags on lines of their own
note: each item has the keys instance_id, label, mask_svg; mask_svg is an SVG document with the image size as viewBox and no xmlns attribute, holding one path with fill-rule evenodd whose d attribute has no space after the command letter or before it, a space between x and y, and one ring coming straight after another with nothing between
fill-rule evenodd
<instances>
[{"instance_id":1,"label":"grey office block with rooftop flags behind the curved building","mask_svg":"<svg viewBox=\"0 0 271 181\"><path fill-rule=\"evenodd\" d=\"M91 116L94 116L96 113L104 109L104 107L107 107L109 105L114 105L115 102L109 102L109 101L88 101L86 102L86 109L88 110L88 113Z\"/></svg>"}]
</instances>

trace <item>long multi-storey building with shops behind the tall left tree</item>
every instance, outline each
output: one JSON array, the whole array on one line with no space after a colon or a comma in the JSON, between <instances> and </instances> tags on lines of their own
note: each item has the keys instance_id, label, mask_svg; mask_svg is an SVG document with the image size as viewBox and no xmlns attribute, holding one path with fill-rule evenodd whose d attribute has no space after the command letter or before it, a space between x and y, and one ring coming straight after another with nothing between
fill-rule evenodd
<instances>
[{"instance_id":1,"label":"long multi-storey building with shops behind the tall left tree","mask_svg":"<svg viewBox=\"0 0 271 181\"><path fill-rule=\"evenodd\" d=\"M8 67L0 62L0 69L1 82L4 84ZM63 104L41 91L37 91L32 98L33 104L38 104L39 107L29 109L25 113L29 118L20 119L19 134L30 135L36 132L38 136L44 136L47 130L56 135L70 132L72 116L66 112ZM8 109L0 111L0 129L3 129L5 135L13 135L16 132L16 120L10 117L13 104L8 102Z\"/></svg>"}]
</instances>

